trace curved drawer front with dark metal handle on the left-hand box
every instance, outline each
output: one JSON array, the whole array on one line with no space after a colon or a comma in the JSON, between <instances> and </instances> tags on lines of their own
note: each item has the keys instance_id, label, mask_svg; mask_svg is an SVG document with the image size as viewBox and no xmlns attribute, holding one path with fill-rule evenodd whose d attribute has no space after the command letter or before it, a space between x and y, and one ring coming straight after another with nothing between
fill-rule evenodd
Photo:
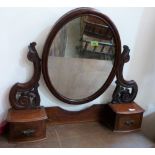
<instances>
[{"instance_id":1,"label":"curved drawer front with dark metal handle on the left-hand box","mask_svg":"<svg viewBox=\"0 0 155 155\"><path fill-rule=\"evenodd\" d=\"M34 141L46 137L45 121L10 123L10 141Z\"/></svg>"}]
</instances>

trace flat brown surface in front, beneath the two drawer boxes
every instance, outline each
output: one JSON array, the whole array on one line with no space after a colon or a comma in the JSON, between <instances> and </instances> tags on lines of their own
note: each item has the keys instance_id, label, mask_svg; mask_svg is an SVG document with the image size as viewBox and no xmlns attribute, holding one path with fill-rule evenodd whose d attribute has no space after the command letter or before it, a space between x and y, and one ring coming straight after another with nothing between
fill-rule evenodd
<instances>
[{"instance_id":1,"label":"flat brown surface in front, beneath the two drawer boxes","mask_svg":"<svg viewBox=\"0 0 155 155\"><path fill-rule=\"evenodd\" d=\"M62 125L48 123L47 139L35 143L8 143L6 138L0 136L0 147L58 148L59 150L60 148L154 148L155 142L141 131L116 134L98 122Z\"/></svg>"}]
</instances>

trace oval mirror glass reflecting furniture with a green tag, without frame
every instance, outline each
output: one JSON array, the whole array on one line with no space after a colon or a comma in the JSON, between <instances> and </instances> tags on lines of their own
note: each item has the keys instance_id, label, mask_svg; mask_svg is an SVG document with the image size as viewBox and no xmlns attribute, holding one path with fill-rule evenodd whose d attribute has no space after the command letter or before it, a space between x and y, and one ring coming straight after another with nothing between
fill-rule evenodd
<instances>
[{"instance_id":1,"label":"oval mirror glass reflecting furniture with a green tag, without frame","mask_svg":"<svg viewBox=\"0 0 155 155\"><path fill-rule=\"evenodd\" d=\"M93 15L75 18L56 34L48 54L48 75L64 97L83 99L106 82L115 59L111 28Z\"/></svg>"}]
</instances>

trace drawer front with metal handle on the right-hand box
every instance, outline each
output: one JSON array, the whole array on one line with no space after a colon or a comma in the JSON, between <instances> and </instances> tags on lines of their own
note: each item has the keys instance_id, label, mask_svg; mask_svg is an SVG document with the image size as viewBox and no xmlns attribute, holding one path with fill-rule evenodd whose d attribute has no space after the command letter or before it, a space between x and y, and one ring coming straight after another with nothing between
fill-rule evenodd
<instances>
[{"instance_id":1,"label":"drawer front with metal handle on the right-hand box","mask_svg":"<svg viewBox=\"0 0 155 155\"><path fill-rule=\"evenodd\" d=\"M118 115L115 129L119 131L136 130L141 127L142 114Z\"/></svg>"}]
</instances>

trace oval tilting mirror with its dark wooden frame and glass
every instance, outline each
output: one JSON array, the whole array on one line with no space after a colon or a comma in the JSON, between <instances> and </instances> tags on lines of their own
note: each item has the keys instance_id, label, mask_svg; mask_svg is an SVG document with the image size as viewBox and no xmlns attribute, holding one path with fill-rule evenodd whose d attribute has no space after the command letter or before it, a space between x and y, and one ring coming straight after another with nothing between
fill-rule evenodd
<instances>
[{"instance_id":1,"label":"oval tilting mirror with its dark wooden frame and glass","mask_svg":"<svg viewBox=\"0 0 155 155\"><path fill-rule=\"evenodd\" d=\"M90 8L65 14L50 32L43 51L43 76L61 101L83 104L111 84L121 53L112 21Z\"/></svg>"}]
</instances>

